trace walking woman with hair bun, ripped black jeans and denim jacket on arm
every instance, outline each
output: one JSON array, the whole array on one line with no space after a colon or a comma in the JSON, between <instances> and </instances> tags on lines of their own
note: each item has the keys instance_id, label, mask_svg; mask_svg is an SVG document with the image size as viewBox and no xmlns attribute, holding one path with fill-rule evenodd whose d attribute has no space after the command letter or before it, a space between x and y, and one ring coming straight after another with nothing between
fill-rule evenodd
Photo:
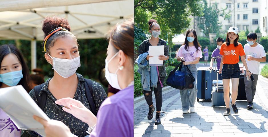
<instances>
[{"instance_id":1,"label":"walking woman with hair bun, ripped black jeans and denim jacket on arm","mask_svg":"<svg viewBox=\"0 0 268 137\"><path fill-rule=\"evenodd\" d=\"M148 29L149 29L149 33L151 33L151 37L143 41L143 43L141 43L141 45L139 46L139 57L149 53L148 52L149 46L164 45L164 55L159 55L158 57L159 60L163 61L163 66L157 66L157 72L154 71L153 69L148 70L148 71L151 71L150 72L151 75L149 77L148 76L146 77L145 73L141 74L142 75L141 83L143 86L142 88L144 92L144 97L145 97L147 104L149 105L149 112L147 115L147 118L149 120L153 118L153 112L155 111L155 106L153 106L153 97L152 97L153 89L155 92L155 102L156 102L155 124L157 125L157 124L161 124L160 112L161 112L162 101L163 101L162 87L163 87L165 77L167 76L167 72L165 68L165 61L169 59L169 54L168 54L167 42L159 38L159 35L161 34L160 25L157 23L155 19L150 19L148 21ZM151 57L152 56L149 56L148 54L146 57L146 60L149 61ZM145 59L143 61L145 61ZM148 68L149 67L143 67L143 69L146 69L146 70ZM148 82L145 82L145 81L148 81Z\"/></svg>"}]
</instances>

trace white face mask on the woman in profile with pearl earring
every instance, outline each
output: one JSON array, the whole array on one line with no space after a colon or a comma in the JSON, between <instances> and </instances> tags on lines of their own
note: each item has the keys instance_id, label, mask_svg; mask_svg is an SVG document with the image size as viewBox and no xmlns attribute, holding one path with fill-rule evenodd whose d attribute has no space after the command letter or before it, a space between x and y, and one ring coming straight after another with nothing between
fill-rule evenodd
<instances>
[{"instance_id":1,"label":"white face mask on the woman in profile with pearl earring","mask_svg":"<svg viewBox=\"0 0 268 137\"><path fill-rule=\"evenodd\" d=\"M108 83L116 89L122 90L122 88L120 88L119 83L118 83L118 76L117 76L117 71L119 70L119 68L117 68L117 70L115 71L115 73L110 73L108 70L108 64L109 62L118 54L119 52L117 52L115 55L113 55L113 57L108 61L107 59L105 59L105 78L107 79Z\"/></svg>"}]
</instances>

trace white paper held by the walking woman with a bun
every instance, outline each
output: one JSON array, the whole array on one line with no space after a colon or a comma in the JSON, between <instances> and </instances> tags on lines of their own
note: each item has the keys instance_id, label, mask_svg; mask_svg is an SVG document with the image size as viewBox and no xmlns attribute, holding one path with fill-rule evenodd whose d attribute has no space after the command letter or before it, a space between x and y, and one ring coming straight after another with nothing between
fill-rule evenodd
<instances>
[{"instance_id":1,"label":"white paper held by the walking woman with a bun","mask_svg":"<svg viewBox=\"0 0 268 137\"><path fill-rule=\"evenodd\" d=\"M159 55L164 55L165 46L149 46L149 66L163 66L163 62L158 59Z\"/></svg>"}]
</instances>

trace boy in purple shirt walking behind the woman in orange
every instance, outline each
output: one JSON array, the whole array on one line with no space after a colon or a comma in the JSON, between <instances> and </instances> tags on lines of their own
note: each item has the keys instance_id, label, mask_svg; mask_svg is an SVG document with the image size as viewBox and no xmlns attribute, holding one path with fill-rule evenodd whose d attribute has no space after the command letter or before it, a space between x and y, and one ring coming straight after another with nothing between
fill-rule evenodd
<instances>
[{"instance_id":1,"label":"boy in purple shirt walking behind the woman in orange","mask_svg":"<svg viewBox=\"0 0 268 137\"><path fill-rule=\"evenodd\" d=\"M212 55L211 57L215 57L216 58L216 61L217 61L217 69L219 70L220 69L220 64L221 64L221 59L222 59L222 55L220 55L220 49L221 49L221 46L222 46L222 43L224 43L224 39L221 38L221 37L218 37L216 39L216 43L217 43L217 48L214 49L214 51L212 52ZM214 59L211 58L211 61L210 61L210 67L209 69L213 69L213 62L214 62ZM218 79L219 80L222 80L222 74L220 74L218 76Z\"/></svg>"}]
</instances>

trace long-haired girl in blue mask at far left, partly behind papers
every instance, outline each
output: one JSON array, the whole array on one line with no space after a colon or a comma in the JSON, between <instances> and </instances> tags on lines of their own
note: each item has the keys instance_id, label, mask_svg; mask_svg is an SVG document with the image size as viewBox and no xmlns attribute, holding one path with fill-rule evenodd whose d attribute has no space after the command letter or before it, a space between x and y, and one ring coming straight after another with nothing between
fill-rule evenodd
<instances>
[{"instance_id":1,"label":"long-haired girl in blue mask at far left, partly behind papers","mask_svg":"<svg viewBox=\"0 0 268 137\"><path fill-rule=\"evenodd\" d=\"M29 69L16 46L2 45L0 46L0 88L16 85L22 85L27 92L30 91ZM1 108L0 119L0 136L19 137L21 135L21 130Z\"/></svg>"}]
</instances>

